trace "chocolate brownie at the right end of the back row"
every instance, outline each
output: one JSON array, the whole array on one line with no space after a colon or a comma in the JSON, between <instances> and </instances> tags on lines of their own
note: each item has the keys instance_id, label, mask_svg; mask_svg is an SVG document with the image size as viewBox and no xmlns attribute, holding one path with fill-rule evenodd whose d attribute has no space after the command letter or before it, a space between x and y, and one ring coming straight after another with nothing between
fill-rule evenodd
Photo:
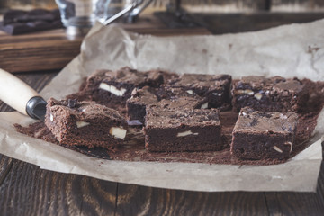
<instances>
[{"instance_id":1,"label":"chocolate brownie at the right end of the back row","mask_svg":"<svg viewBox=\"0 0 324 216\"><path fill-rule=\"evenodd\" d=\"M281 76L245 76L233 81L234 110L249 106L265 112L295 112L307 101L302 81Z\"/></svg>"}]
</instances>

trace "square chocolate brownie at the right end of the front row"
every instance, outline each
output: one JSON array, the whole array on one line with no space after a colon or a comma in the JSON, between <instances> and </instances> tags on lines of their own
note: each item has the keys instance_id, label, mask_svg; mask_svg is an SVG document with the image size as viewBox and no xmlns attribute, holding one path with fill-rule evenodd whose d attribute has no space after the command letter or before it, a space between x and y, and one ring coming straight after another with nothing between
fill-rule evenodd
<instances>
[{"instance_id":1,"label":"square chocolate brownie at the right end of the front row","mask_svg":"<svg viewBox=\"0 0 324 216\"><path fill-rule=\"evenodd\" d=\"M294 112L260 112L242 108L233 130L230 152L241 159L285 159L293 151Z\"/></svg>"}]
</instances>

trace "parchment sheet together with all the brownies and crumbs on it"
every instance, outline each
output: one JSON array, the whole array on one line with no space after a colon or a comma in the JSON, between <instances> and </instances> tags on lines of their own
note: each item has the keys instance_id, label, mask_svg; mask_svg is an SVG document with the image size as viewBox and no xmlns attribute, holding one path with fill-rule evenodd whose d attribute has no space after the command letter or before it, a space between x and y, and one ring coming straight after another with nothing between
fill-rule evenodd
<instances>
[{"instance_id":1,"label":"parchment sheet together with all the brownies and crumbs on it","mask_svg":"<svg viewBox=\"0 0 324 216\"><path fill-rule=\"evenodd\" d=\"M4 154L58 172L130 184L313 191L324 134L319 123L324 77L311 70L321 55L313 65L305 61L318 55L320 45L311 38L304 52L294 49L300 40L282 48L298 56L300 67L293 68L291 56L276 56L277 39L293 38L291 31L284 26L228 37L157 38L96 25L81 54L40 93L48 102L45 122L18 113L11 113L10 121L7 113L0 116L14 137L3 139L3 151L19 146L20 139L32 140L22 150L29 156L14 155L20 148ZM262 37L269 33L275 39ZM243 46L250 38L259 40ZM268 43L272 49L258 47ZM177 58L180 51L187 58ZM274 63L283 58L288 62L278 69ZM41 156L32 158L35 154Z\"/></svg>"}]
</instances>

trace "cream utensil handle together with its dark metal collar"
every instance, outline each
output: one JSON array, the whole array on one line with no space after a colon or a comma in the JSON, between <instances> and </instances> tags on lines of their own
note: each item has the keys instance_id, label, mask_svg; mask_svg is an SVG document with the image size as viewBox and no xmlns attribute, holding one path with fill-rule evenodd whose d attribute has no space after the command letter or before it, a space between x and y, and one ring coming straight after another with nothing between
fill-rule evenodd
<instances>
[{"instance_id":1,"label":"cream utensil handle together with its dark metal collar","mask_svg":"<svg viewBox=\"0 0 324 216\"><path fill-rule=\"evenodd\" d=\"M0 69L0 100L14 110L44 121L46 101L17 76Z\"/></svg>"}]
</instances>

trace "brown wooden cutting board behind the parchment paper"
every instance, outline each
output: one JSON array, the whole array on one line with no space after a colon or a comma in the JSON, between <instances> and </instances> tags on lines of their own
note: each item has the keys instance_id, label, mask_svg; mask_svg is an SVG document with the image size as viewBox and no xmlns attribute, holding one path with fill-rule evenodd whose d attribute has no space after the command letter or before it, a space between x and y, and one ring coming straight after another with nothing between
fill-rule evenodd
<instances>
[{"instance_id":1,"label":"brown wooden cutting board behind the parchment paper","mask_svg":"<svg viewBox=\"0 0 324 216\"><path fill-rule=\"evenodd\" d=\"M157 36L211 34L205 28L167 29L153 16L119 25L127 31ZM0 31L0 68L12 73L63 68L78 55L82 40L69 39L64 29L16 36Z\"/></svg>"}]
</instances>

